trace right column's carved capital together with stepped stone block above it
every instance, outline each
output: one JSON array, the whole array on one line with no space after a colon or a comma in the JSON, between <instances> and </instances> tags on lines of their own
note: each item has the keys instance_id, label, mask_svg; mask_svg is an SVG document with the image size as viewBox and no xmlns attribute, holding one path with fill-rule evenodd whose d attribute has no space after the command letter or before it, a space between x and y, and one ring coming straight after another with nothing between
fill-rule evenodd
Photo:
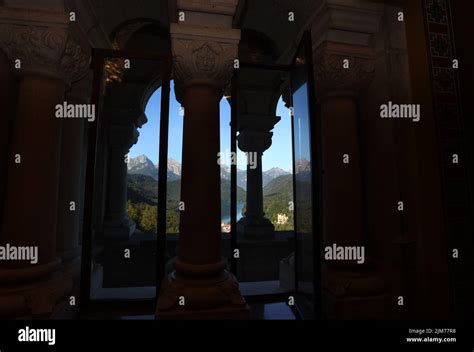
<instances>
[{"instance_id":1,"label":"right column's carved capital together with stepped stone block above it","mask_svg":"<svg viewBox=\"0 0 474 352\"><path fill-rule=\"evenodd\" d=\"M375 72L373 36L379 30L384 6L363 0L320 2L311 22L319 96L355 96L370 84Z\"/></svg>"}]
</instances>

